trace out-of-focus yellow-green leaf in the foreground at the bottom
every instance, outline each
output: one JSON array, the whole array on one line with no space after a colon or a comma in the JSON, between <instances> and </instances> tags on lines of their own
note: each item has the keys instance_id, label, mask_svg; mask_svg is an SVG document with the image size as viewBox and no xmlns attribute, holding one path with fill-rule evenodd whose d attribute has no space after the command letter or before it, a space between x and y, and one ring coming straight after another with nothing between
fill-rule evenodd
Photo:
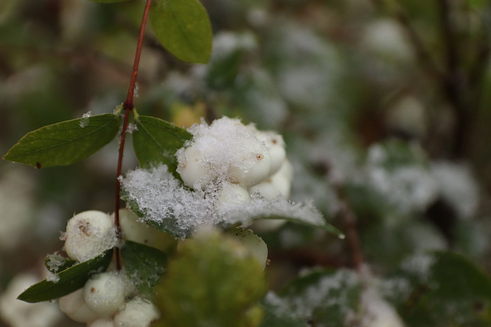
<instances>
[{"instance_id":1,"label":"out-of-focus yellow-green leaf in the foreground at the bottom","mask_svg":"<svg viewBox=\"0 0 491 327\"><path fill-rule=\"evenodd\" d=\"M266 291L262 267L245 248L217 232L182 243L156 286L156 326L257 326Z\"/></svg>"}]
</instances>

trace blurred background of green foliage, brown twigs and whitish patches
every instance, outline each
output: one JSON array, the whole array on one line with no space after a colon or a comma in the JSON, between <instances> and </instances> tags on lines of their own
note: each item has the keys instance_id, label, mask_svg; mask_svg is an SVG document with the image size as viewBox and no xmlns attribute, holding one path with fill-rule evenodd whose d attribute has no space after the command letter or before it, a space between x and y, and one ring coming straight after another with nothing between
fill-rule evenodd
<instances>
[{"instance_id":1,"label":"blurred background of green foliage, brown twigs and whitish patches","mask_svg":"<svg viewBox=\"0 0 491 327\"><path fill-rule=\"evenodd\" d=\"M282 133L292 199L314 199L340 229L347 204L381 278L428 250L491 271L489 1L202 3L214 32L209 64L178 62L148 28L140 114L178 126L238 116ZM142 11L136 0L0 2L2 154L28 131L123 102ZM112 211L116 160L113 142L69 167L0 163L0 290L18 272L41 272L73 213ZM354 267L347 241L324 232L255 230L269 246L273 290L304 267Z\"/></svg>"}]
</instances>

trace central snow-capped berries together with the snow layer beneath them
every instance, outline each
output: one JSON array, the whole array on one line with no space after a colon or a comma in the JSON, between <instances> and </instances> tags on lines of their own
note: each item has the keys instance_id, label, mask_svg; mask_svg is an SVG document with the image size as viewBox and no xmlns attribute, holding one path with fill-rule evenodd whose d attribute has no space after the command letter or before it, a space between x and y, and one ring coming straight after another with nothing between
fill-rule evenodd
<instances>
[{"instance_id":1,"label":"central snow-capped berries together with the snow layer beneath them","mask_svg":"<svg viewBox=\"0 0 491 327\"><path fill-rule=\"evenodd\" d=\"M121 179L124 198L144 220L178 237L203 225L249 225L264 216L324 224L312 203L288 201L292 166L281 135L228 117L188 131L194 138L175 154L184 185L166 165L130 171Z\"/></svg>"}]
</instances>

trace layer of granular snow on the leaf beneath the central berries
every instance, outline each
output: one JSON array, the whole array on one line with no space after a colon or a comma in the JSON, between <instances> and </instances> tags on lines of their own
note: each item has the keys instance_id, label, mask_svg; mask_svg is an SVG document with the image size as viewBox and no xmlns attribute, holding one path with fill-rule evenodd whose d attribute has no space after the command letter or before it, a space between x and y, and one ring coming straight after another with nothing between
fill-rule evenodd
<instances>
[{"instance_id":1,"label":"layer of granular snow on the leaf beneath the central berries","mask_svg":"<svg viewBox=\"0 0 491 327\"><path fill-rule=\"evenodd\" d=\"M130 171L122 179L126 199L137 203L144 220L173 225L175 236L184 238L203 225L249 225L253 218L278 216L297 218L314 225L324 220L311 201L293 203L285 198L265 200L253 197L247 203L217 203L213 192L183 187L166 165ZM174 224L175 222L175 224Z\"/></svg>"}]
</instances>

